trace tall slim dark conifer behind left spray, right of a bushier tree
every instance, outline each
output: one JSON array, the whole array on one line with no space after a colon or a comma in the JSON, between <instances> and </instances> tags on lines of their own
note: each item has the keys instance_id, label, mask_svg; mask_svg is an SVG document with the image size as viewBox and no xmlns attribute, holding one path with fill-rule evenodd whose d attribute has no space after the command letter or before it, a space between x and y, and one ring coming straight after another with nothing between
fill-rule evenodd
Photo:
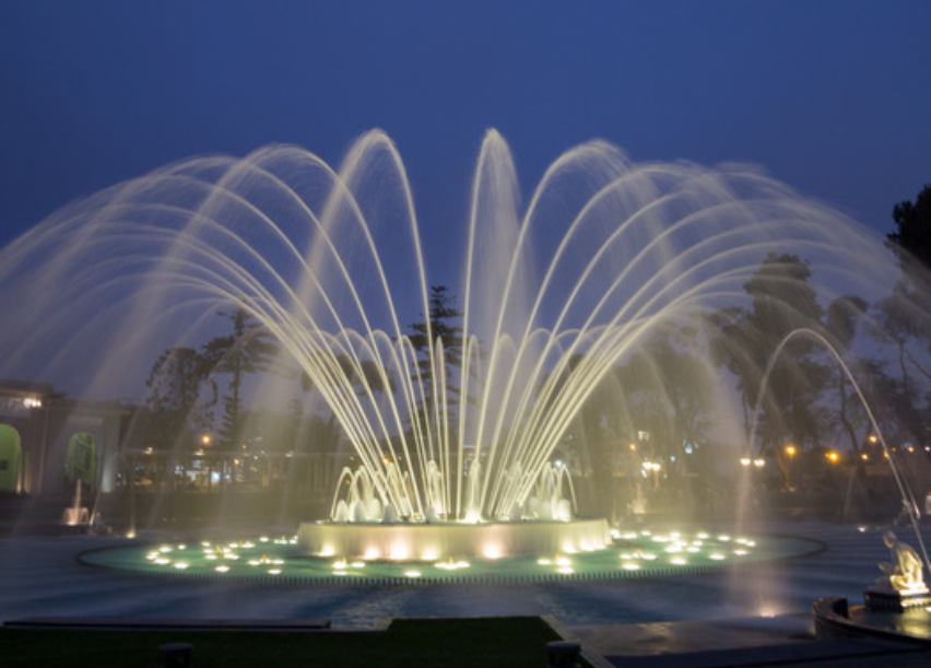
<instances>
[{"instance_id":1,"label":"tall slim dark conifer behind left spray, right of a bushier tree","mask_svg":"<svg viewBox=\"0 0 931 668\"><path fill-rule=\"evenodd\" d=\"M233 332L208 341L201 354L212 373L231 376L219 430L221 447L231 449L243 437L243 378L246 374L267 371L278 344L269 330L243 306L217 312L217 315L229 319Z\"/></svg>"}]
</instances>

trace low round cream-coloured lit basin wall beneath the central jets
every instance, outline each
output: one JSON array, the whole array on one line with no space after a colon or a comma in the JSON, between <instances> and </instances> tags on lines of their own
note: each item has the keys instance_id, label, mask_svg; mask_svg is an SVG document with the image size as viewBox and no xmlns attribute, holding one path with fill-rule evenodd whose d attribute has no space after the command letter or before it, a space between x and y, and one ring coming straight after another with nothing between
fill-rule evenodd
<instances>
[{"instance_id":1,"label":"low round cream-coloured lit basin wall beneath the central jets","mask_svg":"<svg viewBox=\"0 0 931 668\"><path fill-rule=\"evenodd\" d=\"M488 524L304 521L297 529L297 548L302 554L367 561L571 554L609 544L611 534L603 518Z\"/></svg>"}]
</instances>

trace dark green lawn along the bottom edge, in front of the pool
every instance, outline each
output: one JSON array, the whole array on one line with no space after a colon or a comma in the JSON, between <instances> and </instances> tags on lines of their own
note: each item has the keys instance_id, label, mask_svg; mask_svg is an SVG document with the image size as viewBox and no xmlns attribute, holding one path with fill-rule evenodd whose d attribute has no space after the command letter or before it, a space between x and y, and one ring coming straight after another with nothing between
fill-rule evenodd
<instances>
[{"instance_id":1,"label":"dark green lawn along the bottom edge, in front of the pool","mask_svg":"<svg viewBox=\"0 0 931 668\"><path fill-rule=\"evenodd\" d=\"M158 646L193 645L192 668L540 668L559 640L540 618L398 620L385 632L0 629L4 668L157 668Z\"/></svg>"}]
</instances>

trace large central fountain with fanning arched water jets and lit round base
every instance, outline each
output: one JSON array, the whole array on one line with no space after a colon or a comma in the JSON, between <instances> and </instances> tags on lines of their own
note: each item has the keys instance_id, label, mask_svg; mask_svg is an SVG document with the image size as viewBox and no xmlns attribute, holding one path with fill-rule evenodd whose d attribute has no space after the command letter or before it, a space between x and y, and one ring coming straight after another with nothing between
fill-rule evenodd
<instances>
[{"instance_id":1,"label":"large central fountain with fanning arched water jets and lit round base","mask_svg":"<svg viewBox=\"0 0 931 668\"><path fill-rule=\"evenodd\" d=\"M300 527L307 553L549 554L610 540L605 520L575 517L554 453L625 355L663 328L702 330L769 251L811 260L826 297L863 285L864 258L891 265L850 221L755 171L637 164L602 142L562 155L521 207L490 131L464 238L449 243L464 250L457 331L425 318L415 341L405 324L436 306L420 226L379 131L339 169L293 147L170 165L2 251L14 325L0 374L114 396L139 386L140 359L202 340L233 305L278 339L360 462L331 517Z\"/></svg>"}]
</instances>

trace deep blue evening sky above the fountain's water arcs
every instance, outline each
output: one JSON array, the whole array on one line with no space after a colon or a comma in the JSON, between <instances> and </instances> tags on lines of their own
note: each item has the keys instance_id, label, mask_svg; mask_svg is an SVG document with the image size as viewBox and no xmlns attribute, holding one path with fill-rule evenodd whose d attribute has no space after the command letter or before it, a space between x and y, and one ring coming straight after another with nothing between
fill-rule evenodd
<instances>
[{"instance_id":1,"label":"deep blue evening sky above the fountain's water arcs","mask_svg":"<svg viewBox=\"0 0 931 668\"><path fill-rule=\"evenodd\" d=\"M885 234L931 183L931 2L5 0L0 245L195 154L396 140L427 244L486 128L525 195L570 147L747 161Z\"/></svg>"}]
</instances>

